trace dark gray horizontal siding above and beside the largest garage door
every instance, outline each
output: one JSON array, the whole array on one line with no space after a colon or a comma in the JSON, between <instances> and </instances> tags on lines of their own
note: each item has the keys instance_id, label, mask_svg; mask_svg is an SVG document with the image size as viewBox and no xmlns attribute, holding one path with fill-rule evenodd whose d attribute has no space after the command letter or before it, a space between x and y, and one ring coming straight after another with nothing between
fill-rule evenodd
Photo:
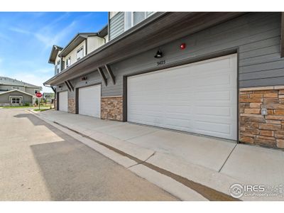
<instances>
[{"instance_id":1,"label":"dark gray horizontal siding above and beside the largest garage door","mask_svg":"<svg viewBox=\"0 0 284 213\"><path fill-rule=\"evenodd\" d=\"M185 50L179 50L186 43ZM199 58L222 50L239 49L239 87L284 84L284 60L280 58L280 13L247 13L160 47L166 64ZM157 49L111 65L116 85L104 88L104 96L122 95L123 76L156 67ZM161 67L162 68L162 67Z\"/></svg>"}]
</instances>

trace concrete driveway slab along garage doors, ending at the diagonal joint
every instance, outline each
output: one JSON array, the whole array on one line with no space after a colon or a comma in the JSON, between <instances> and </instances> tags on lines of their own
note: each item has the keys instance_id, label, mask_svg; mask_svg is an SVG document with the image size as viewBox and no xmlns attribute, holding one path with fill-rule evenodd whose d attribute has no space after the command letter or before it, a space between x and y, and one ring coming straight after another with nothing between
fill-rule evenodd
<instances>
[{"instance_id":1,"label":"concrete driveway slab along garage doors, ending at the diagonal joint","mask_svg":"<svg viewBox=\"0 0 284 213\"><path fill-rule=\"evenodd\" d=\"M221 170L226 158L236 146L235 141L195 136L129 122L107 121L62 111L44 111L40 113L40 116L93 138L101 133L112 138L112 141L116 139L124 141L129 147L140 146L151 151L169 154L185 162L195 163L215 171Z\"/></svg>"}]
</instances>

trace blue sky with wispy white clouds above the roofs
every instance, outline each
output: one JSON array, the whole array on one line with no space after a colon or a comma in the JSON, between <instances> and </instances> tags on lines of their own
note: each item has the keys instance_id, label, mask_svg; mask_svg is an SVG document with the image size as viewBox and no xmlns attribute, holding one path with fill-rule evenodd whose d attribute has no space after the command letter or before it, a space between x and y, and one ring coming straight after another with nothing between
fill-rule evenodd
<instances>
[{"instance_id":1,"label":"blue sky with wispy white clouds above the roofs","mask_svg":"<svg viewBox=\"0 0 284 213\"><path fill-rule=\"evenodd\" d=\"M64 48L77 33L107 24L107 12L0 12L0 76L43 87L54 75L53 45Z\"/></svg>"}]
</instances>

